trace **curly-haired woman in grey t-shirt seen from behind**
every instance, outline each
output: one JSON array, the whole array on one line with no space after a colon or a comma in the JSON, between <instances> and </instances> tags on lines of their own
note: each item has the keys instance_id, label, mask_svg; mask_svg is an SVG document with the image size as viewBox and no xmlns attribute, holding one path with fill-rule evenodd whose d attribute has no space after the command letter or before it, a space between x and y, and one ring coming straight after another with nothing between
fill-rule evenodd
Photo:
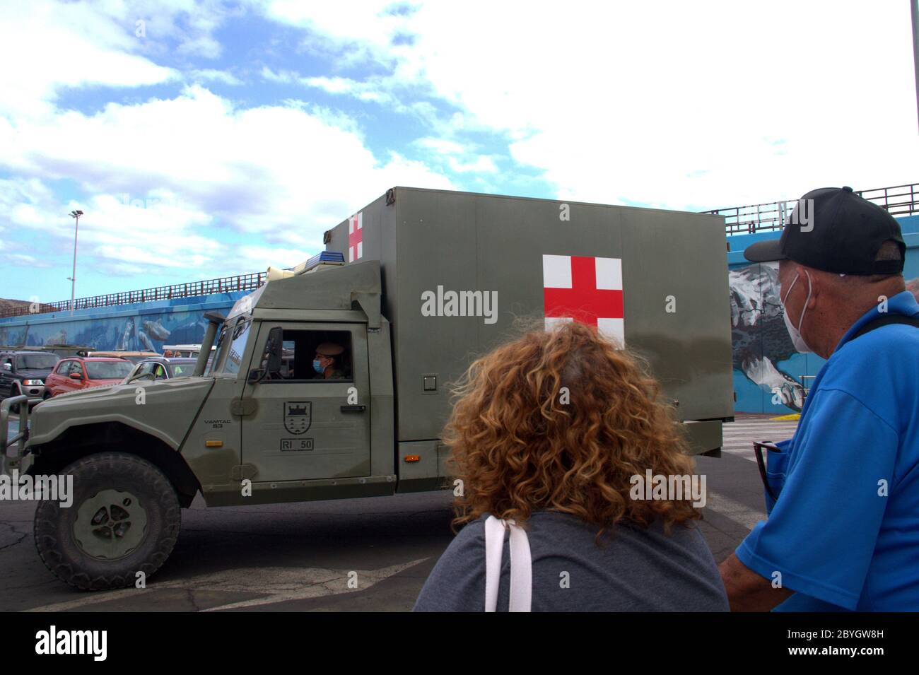
<instances>
[{"instance_id":1,"label":"curly-haired woman in grey t-shirt seen from behind","mask_svg":"<svg viewBox=\"0 0 919 675\"><path fill-rule=\"evenodd\" d=\"M691 497L633 499L634 477L687 476L692 459L640 362L596 329L529 332L475 361L444 439L465 526L415 611L481 612L484 522L528 536L533 611L727 611ZM660 496L660 495L658 495ZM509 598L505 537L498 611Z\"/></svg>"}]
</instances>

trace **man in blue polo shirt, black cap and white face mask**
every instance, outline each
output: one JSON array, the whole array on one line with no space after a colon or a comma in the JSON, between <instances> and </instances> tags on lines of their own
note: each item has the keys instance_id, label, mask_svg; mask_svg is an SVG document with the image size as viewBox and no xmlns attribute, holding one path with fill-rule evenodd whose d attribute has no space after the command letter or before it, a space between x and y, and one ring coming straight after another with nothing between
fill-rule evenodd
<instances>
[{"instance_id":1,"label":"man in blue polo shirt, black cap and white face mask","mask_svg":"<svg viewBox=\"0 0 919 675\"><path fill-rule=\"evenodd\" d=\"M801 197L781 239L744 252L779 261L791 338L828 360L794 437L768 453L768 520L721 564L733 611L919 611L919 304L905 250L897 220L843 187Z\"/></svg>"}]
</instances>

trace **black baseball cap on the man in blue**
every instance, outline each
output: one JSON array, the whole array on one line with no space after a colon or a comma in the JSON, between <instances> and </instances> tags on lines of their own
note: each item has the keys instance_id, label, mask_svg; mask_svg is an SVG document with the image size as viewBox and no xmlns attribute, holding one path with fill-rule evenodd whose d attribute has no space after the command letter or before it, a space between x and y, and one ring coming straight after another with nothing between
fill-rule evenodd
<instances>
[{"instance_id":1,"label":"black baseball cap on the man in blue","mask_svg":"<svg viewBox=\"0 0 919 675\"><path fill-rule=\"evenodd\" d=\"M879 260L881 244L897 242L900 260ZM851 187L821 187L804 195L792 210L780 239L755 242L743 257L753 263L792 260L842 275L897 275L906 243L900 223Z\"/></svg>"}]
</instances>

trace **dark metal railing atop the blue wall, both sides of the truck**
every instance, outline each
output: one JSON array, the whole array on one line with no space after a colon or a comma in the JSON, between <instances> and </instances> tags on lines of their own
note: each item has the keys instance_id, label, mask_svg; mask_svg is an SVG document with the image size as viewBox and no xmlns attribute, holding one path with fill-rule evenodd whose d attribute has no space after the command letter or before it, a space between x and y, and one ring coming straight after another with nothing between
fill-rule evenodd
<instances>
[{"instance_id":1,"label":"dark metal railing atop the blue wall, both sides of the truck","mask_svg":"<svg viewBox=\"0 0 919 675\"><path fill-rule=\"evenodd\" d=\"M904 186L878 187L871 190L857 190L861 195L886 208L894 216L911 216L919 214L919 183ZM746 234L753 232L781 230L788 219L797 199L751 204L745 207L715 208L703 213L724 216L725 229L728 234ZM266 273L251 275L224 276L220 279L193 281L187 284L160 286L142 290L130 290L123 293L109 293L104 296L76 298L74 309L92 309L128 305L133 302L153 302L153 300L170 300L174 298L195 298L233 291L251 291L265 283ZM70 300L59 302L42 302L23 305L9 309L0 309L0 317L17 317L26 314L47 314L55 311L69 311Z\"/></svg>"}]
</instances>

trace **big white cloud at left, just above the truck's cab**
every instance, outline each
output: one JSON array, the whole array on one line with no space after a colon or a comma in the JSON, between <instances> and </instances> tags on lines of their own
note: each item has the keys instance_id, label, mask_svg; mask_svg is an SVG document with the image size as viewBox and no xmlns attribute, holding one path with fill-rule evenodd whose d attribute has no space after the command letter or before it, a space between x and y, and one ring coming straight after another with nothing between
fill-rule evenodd
<instances>
[{"instance_id":1,"label":"big white cloud at left, just above the truck's cab","mask_svg":"<svg viewBox=\"0 0 919 675\"><path fill-rule=\"evenodd\" d=\"M269 250L315 253L323 231L391 186L451 187L399 154L380 161L339 121L323 110L237 108L197 85L172 99L109 104L95 115L20 119L0 129L0 164L28 176L8 186L7 200L18 205L10 219L37 237L61 236L70 223L59 214L83 208L81 242L102 259L187 267L187 252L196 252L206 256L201 264L235 274L252 271L255 249L217 245L209 231L231 228ZM37 182L58 178L96 197L65 207ZM148 197L160 203L150 206ZM275 262L255 269L267 264Z\"/></svg>"}]
</instances>

